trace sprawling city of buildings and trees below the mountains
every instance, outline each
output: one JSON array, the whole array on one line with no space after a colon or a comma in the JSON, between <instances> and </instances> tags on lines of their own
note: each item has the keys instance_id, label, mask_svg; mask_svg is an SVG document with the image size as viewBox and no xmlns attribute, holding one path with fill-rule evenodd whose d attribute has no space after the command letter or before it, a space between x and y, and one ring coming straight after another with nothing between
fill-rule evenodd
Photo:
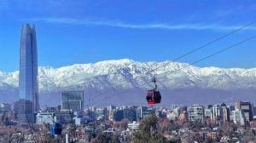
<instances>
[{"instance_id":1,"label":"sprawling city of buildings and trees below the mountains","mask_svg":"<svg viewBox=\"0 0 256 143\"><path fill-rule=\"evenodd\" d=\"M252 142L256 134L256 109L248 101L237 101L230 106L222 103L84 109L83 96L84 91L63 91L59 106L39 109L34 114L34 123L21 126L18 125L20 103L2 103L1 142L131 142L135 138L139 142L145 141L143 137L135 137L141 133L145 120L156 122L155 128L162 134L161 138L148 139L155 142ZM62 133L50 136L49 125L55 123L61 124Z\"/></svg>"}]
</instances>

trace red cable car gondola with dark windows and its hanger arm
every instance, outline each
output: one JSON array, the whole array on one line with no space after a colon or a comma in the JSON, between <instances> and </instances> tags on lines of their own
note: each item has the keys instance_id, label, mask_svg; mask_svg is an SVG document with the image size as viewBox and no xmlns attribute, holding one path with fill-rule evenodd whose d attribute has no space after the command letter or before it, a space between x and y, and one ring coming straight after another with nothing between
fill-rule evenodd
<instances>
[{"instance_id":1,"label":"red cable car gondola with dark windows and its hanger arm","mask_svg":"<svg viewBox=\"0 0 256 143\"><path fill-rule=\"evenodd\" d=\"M148 104L157 104L161 102L161 94L157 90L156 80L155 78L152 80L154 82L154 89L148 90L146 94L146 100Z\"/></svg>"}]
</instances>

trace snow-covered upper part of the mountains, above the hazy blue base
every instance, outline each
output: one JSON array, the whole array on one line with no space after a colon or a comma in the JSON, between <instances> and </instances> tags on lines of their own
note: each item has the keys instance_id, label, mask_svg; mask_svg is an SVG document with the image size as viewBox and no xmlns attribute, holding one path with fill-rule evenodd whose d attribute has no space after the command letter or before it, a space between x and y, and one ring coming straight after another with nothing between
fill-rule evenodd
<instances>
[{"instance_id":1,"label":"snow-covered upper part of the mountains, above the hazy blue base","mask_svg":"<svg viewBox=\"0 0 256 143\"><path fill-rule=\"evenodd\" d=\"M43 66L38 67L39 94L42 94L40 97L42 100L45 100L44 97L48 99L53 95L58 96L59 99L63 90L83 89L88 91L88 94L90 93L88 97L94 98L98 96L97 94L110 89L113 90L110 94L115 94L115 90L134 90L134 87L145 84L138 89L140 91L134 90L134 94L143 94L145 89L153 87L153 84L148 83L153 77L157 78L160 90L170 92L177 89L220 91L256 89L256 68L189 66L177 71L185 66L189 65L169 60L138 62L129 59L104 60L60 68ZM155 68L156 70L152 71ZM173 71L177 72L171 73ZM6 94L12 94L14 99L17 99L18 77L19 72L0 72L0 100ZM102 97L105 95L102 94ZM59 101L55 102L59 103Z\"/></svg>"}]
</instances>

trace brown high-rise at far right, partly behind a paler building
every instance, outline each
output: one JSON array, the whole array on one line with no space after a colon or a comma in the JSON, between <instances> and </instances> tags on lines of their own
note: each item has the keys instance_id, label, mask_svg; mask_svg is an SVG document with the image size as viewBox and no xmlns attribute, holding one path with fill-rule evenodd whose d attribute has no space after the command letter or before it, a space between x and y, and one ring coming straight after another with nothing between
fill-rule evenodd
<instances>
[{"instance_id":1,"label":"brown high-rise at far right, partly behind a paler building","mask_svg":"<svg viewBox=\"0 0 256 143\"><path fill-rule=\"evenodd\" d=\"M247 101L238 101L236 102L235 106L236 109L241 109L246 121L250 122L253 120L253 103Z\"/></svg>"}]
</instances>

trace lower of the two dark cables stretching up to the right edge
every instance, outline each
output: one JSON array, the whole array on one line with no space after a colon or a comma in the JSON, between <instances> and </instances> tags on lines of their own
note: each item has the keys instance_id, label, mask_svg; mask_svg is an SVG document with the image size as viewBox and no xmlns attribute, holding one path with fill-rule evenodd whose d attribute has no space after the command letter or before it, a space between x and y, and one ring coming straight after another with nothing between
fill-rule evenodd
<instances>
[{"instance_id":1,"label":"lower of the two dark cables stretching up to the right edge","mask_svg":"<svg viewBox=\"0 0 256 143\"><path fill-rule=\"evenodd\" d=\"M196 61L194 61L194 62L192 62L192 63L189 63L189 64L186 65L186 66L183 66L183 67L181 67L181 68L178 68L177 70L174 70L174 71L172 71L172 72L170 72L170 73L168 73L168 74L165 74L165 75L170 75L170 74L172 74L172 73L175 73L175 72L178 72L178 71L180 71L180 70L183 70L184 68L189 67L189 66L194 66L195 64L197 64L197 63L199 63L199 62L201 62L201 61L203 61L203 60L207 60L208 58L210 58L210 57L212 57L212 56L214 56L214 55L216 55L216 54L220 54L220 53L222 53L222 52L224 52L224 51L226 51L226 50L228 50L228 49L232 49L232 48L234 48L234 47L240 45L241 43L246 43L247 41L252 40L252 39L255 38L255 37L256 37L256 35L253 36L253 37L247 37L246 39L242 40L242 41L239 42L239 43L235 43L235 44L233 44L233 45L231 45L231 46L229 46L229 47L227 47L227 48L225 48L225 49L222 49L222 50L219 50L218 52L215 52L215 53L213 53L213 54L207 55L206 57L201 58L200 60L196 60ZM164 76L163 76L163 77L164 77ZM161 78L163 78L163 77L158 77L158 79L161 79ZM151 83L151 82L148 82L148 83ZM142 87L143 85L146 85L146 84L148 84L148 83L140 84L140 85L138 85L138 86L136 86L136 87L134 87L134 88L132 88L132 89L140 88L140 87ZM99 103L101 103L102 101L108 100L108 99L111 98L111 97L114 97L114 96L117 96L117 95L119 95L119 94L125 93L125 92L127 92L127 91L129 91L129 90L131 90L131 89L125 89L125 90L122 91L122 92L119 92L119 93L117 93L117 94L112 94L111 96L108 96L108 97L106 97L106 98L103 98L102 100L98 100L95 105L99 105Z\"/></svg>"}]
</instances>

